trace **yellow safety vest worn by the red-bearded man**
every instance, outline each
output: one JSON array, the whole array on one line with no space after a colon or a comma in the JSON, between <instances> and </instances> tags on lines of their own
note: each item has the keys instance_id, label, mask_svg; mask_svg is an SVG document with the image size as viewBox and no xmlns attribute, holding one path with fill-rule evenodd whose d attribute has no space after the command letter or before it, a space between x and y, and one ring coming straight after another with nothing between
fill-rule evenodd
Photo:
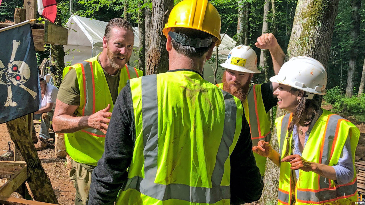
<instances>
[{"instance_id":1,"label":"yellow safety vest worn by the red-bearded man","mask_svg":"<svg viewBox=\"0 0 365 205\"><path fill-rule=\"evenodd\" d=\"M250 85L247 98L242 102L245 109L245 117L250 125L252 146L257 146L258 141L269 142L271 139L270 118L265 111L264 101L262 100L261 85ZM223 83L217 84L223 89ZM265 173L266 157L253 153L256 165L260 169L261 176Z\"/></svg>"}]
</instances>

